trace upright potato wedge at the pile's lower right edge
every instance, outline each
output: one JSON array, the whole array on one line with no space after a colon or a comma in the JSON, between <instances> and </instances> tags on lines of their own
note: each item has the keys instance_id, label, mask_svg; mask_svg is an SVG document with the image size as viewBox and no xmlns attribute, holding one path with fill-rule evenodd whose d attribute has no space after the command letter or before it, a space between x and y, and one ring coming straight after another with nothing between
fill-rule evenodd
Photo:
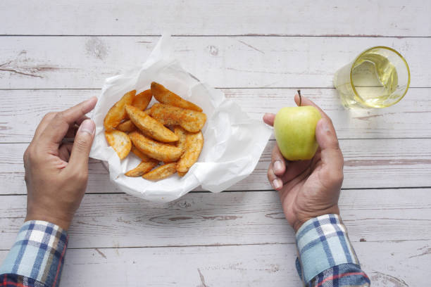
<instances>
[{"instance_id":1,"label":"upright potato wedge at the pile's lower right edge","mask_svg":"<svg viewBox=\"0 0 431 287\"><path fill-rule=\"evenodd\" d=\"M204 135L202 132L187 134L185 141L185 151L177 162L178 172L187 172L196 162L204 146Z\"/></svg>"}]
</instances>

